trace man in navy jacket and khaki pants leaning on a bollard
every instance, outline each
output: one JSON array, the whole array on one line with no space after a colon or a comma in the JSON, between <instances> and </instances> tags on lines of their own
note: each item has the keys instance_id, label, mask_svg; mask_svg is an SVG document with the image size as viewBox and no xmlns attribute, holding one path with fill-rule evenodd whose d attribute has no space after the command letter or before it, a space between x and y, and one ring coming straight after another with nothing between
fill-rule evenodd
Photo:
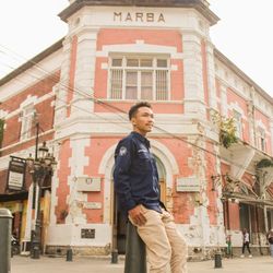
<instances>
[{"instance_id":1,"label":"man in navy jacket and khaki pants leaning on a bollard","mask_svg":"<svg viewBox=\"0 0 273 273\"><path fill-rule=\"evenodd\" d=\"M146 246L151 273L187 273L187 245L173 215L159 201L158 174L150 142L154 115L149 103L138 103L129 111L133 131L115 152L114 182L119 205Z\"/></svg>"}]
</instances>

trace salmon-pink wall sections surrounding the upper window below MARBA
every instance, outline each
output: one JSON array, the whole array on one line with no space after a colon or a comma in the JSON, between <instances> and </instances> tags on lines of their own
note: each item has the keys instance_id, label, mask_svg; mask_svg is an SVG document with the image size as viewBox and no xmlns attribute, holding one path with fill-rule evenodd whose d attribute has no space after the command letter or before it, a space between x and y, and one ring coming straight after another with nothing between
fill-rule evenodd
<instances>
[{"instance_id":1,"label":"salmon-pink wall sections surrounding the upper window below MARBA","mask_svg":"<svg viewBox=\"0 0 273 273\"><path fill-rule=\"evenodd\" d=\"M100 29L97 36L97 50L102 50L106 45L126 45L135 44L135 40L142 39L145 44L157 46L171 46L177 48L178 52L182 51L181 34L177 31L159 31L159 29ZM108 63L108 58L96 58L96 72L94 94L97 98L107 98L107 76L108 71L102 69L102 63ZM181 60L171 60L171 64L177 66L177 71L170 72L170 100L182 100L185 97L185 82L183 82L183 63ZM107 102L114 107L121 106L121 109L127 109L122 105L127 103ZM158 112L162 114L182 114L183 105L180 104L158 104ZM95 111L111 112L112 108L105 107L100 104L95 104Z\"/></svg>"}]
</instances>

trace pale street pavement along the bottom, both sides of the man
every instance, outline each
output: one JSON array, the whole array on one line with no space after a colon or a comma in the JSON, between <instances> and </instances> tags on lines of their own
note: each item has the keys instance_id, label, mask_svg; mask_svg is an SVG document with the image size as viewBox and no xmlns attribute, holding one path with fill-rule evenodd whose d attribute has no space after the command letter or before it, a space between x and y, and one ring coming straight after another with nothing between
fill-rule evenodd
<instances>
[{"instance_id":1,"label":"pale street pavement along the bottom, both sides of the man","mask_svg":"<svg viewBox=\"0 0 273 273\"><path fill-rule=\"evenodd\" d=\"M223 259L223 268L215 269L214 260L189 262L189 273L273 273L273 258L253 257ZM66 261L66 258L41 257L33 260L29 257L14 256L11 258L11 273L123 273L124 261L110 263L110 258L75 258Z\"/></svg>"}]
</instances>

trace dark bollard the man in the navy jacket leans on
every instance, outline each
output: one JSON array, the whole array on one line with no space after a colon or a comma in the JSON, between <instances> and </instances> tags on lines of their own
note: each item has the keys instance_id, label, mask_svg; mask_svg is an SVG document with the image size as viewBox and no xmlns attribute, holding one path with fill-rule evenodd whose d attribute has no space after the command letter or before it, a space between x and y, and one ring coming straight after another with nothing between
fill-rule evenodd
<instances>
[{"instance_id":1,"label":"dark bollard the man in the navy jacket leans on","mask_svg":"<svg viewBox=\"0 0 273 273\"><path fill-rule=\"evenodd\" d=\"M146 247L136 227L128 221L124 273L146 273Z\"/></svg>"}]
</instances>

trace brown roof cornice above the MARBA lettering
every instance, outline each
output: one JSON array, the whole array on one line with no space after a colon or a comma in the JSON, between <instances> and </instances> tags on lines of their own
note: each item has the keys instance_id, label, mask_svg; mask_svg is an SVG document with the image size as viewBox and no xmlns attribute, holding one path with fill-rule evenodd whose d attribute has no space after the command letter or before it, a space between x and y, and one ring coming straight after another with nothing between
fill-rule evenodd
<instances>
[{"instance_id":1,"label":"brown roof cornice above the MARBA lettering","mask_svg":"<svg viewBox=\"0 0 273 273\"><path fill-rule=\"evenodd\" d=\"M211 25L218 22L219 17L209 9L204 0L75 0L67 9L59 13L64 22L83 7L153 7L153 8L191 8L198 10L206 17Z\"/></svg>"}]
</instances>

